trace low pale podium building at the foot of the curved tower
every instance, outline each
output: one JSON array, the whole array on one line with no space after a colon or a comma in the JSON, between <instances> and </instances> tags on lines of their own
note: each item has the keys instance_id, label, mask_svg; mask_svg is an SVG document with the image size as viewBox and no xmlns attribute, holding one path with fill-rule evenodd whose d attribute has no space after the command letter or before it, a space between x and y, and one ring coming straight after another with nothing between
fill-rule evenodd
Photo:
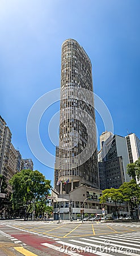
<instances>
[{"instance_id":1,"label":"low pale podium building at the foot of the curved tower","mask_svg":"<svg viewBox=\"0 0 140 256\"><path fill-rule=\"evenodd\" d=\"M114 203L108 202L100 204L99 197L102 195L100 189L88 187L86 185L80 185L78 188L73 189L69 194L60 195L55 189L52 189L54 220L58 220L58 211L60 205L60 217L62 220L70 219L70 201L72 206L72 218L77 220L77 215L84 213L102 214L102 209L105 209L105 214L116 214L116 208ZM121 204L120 214L129 214L128 205L126 203Z\"/></svg>"}]
</instances>

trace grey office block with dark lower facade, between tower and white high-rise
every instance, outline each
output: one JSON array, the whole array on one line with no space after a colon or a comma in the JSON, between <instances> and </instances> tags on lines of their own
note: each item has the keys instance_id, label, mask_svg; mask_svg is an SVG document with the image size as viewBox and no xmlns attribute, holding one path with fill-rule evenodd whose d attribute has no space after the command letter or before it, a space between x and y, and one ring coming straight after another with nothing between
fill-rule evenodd
<instances>
[{"instance_id":1,"label":"grey office block with dark lower facade, between tower and white high-rise","mask_svg":"<svg viewBox=\"0 0 140 256\"><path fill-rule=\"evenodd\" d=\"M129 157L125 137L109 137L104 141L101 151L99 154L104 157L99 163L100 189L119 188L125 181L129 182L131 178L127 174Z\"/></svg>"}]
</instances>

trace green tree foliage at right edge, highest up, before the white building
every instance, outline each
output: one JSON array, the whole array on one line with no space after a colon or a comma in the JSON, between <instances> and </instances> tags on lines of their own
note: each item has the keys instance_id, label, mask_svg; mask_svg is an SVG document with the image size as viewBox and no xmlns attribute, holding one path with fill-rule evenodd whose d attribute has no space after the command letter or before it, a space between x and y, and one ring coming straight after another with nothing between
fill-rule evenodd
<instances>
[{"instance_id":1,"label":"green tree foliage at right edge, highest up, before the white building","mask_svg":"<svg viewBox=\"0 0 140 256\"><path fill-rule=\"evenodd\" d=\"M131 163L127 165L128 175L131 176L133 179L139 181L140 180L140 158L135 161L135 163Z\"/></svg>"}]
</instances>

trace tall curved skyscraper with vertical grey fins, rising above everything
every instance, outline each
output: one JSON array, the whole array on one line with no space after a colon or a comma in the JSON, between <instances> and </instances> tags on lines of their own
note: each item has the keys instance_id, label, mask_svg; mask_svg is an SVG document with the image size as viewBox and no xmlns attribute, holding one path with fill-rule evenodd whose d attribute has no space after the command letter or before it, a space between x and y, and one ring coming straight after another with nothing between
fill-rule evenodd
<instances>
[{"instance_id":1,"label":"tall curved skyscraper with vertical grey fins, rising above everything","mask_svg":"<svg viewBox=\"0 0 140 256\"><path fill-rule=\"evenodd\" d=\"M74 39L62 44L58 191L99 188L92 67Z\"/></svg>"}]
</instances>

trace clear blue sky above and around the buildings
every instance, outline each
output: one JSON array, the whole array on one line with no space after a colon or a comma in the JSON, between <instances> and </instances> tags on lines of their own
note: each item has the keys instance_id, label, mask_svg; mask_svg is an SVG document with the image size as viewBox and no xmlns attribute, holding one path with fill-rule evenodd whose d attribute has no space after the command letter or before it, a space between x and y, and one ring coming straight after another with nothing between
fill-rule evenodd
<instances>
[{"instance_id":1,"label":"clear blue sky above and around the buildings","mask_svg":"<svg viewBox=\"0 0 140 256\"><path fill-rule=\"evenodd\" d=\"M44 93L60 87L61 44L73 38L92 62L94 92L107 105L114 133L140 138L139 0L1 0L0 114L12 132L12 143L23 158L52 180L54 170L41 164L29 149L26 122L29 110ZM53 104L43 115L40 137L55 154L48 123L59 111ZM99 135L103 122L96 114ZM54 127L54 130L56 127Z\"/></svg>"}]
</instances>

